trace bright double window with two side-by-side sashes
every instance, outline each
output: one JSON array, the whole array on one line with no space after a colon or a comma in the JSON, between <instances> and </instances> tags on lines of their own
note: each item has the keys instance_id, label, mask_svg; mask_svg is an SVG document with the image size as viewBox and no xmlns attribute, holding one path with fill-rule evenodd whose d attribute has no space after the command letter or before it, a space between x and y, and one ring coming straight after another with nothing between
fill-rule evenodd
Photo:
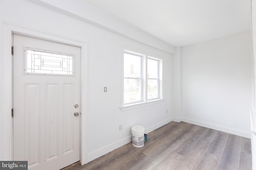
<instances>
[{"instance_id":1,"label":"bright double window with two side-by-side sashes","mask_svg":"<svg viewBox=\"0 0 256 170\"><path fill-rule=\"evenodd\" d=\"M161 99L161 63L159 58L124 51L122 107Z\"/></svg>"}]
</instances>

